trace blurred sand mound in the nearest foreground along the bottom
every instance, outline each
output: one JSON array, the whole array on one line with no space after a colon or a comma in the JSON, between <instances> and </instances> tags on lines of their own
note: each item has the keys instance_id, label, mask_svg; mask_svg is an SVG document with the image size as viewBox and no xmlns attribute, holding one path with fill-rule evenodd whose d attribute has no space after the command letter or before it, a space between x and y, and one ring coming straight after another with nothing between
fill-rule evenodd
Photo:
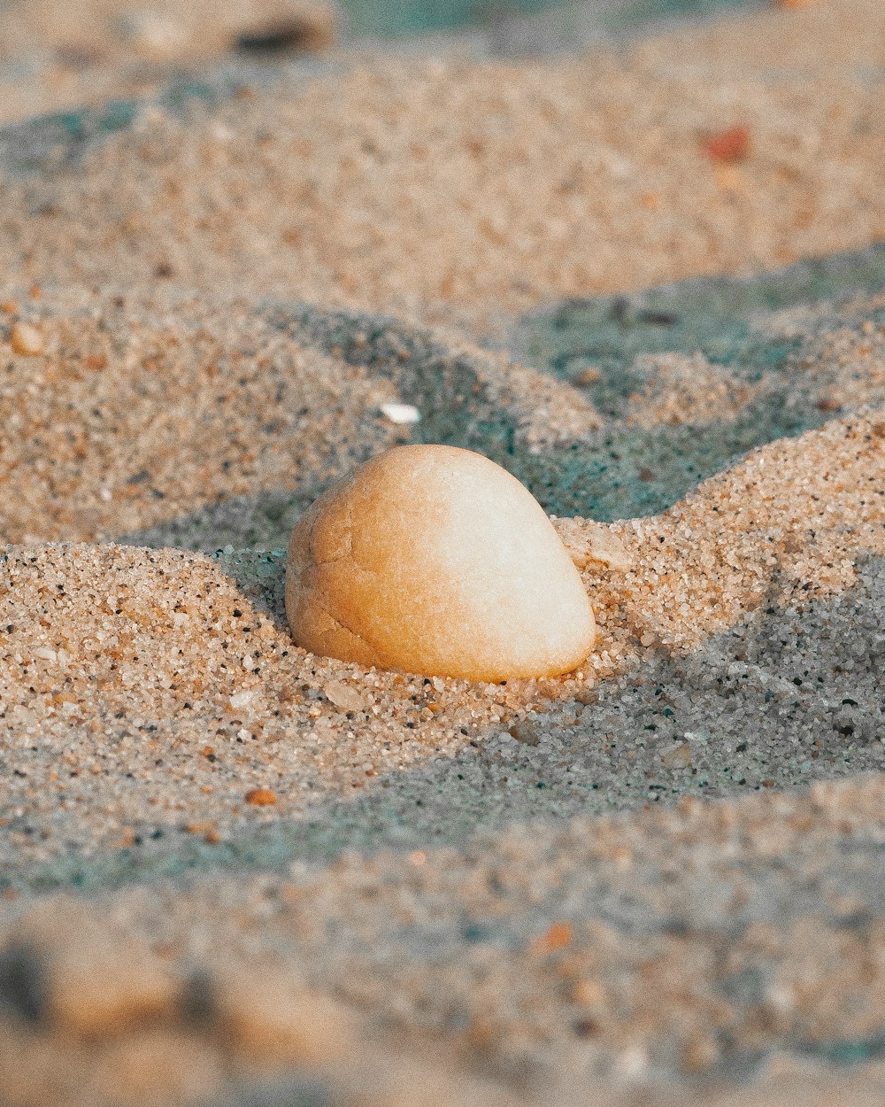
<instances>
[{"instance_id":1,"label":"blurred sand mound in the nearest foreground along the bottom","mask_svg":"<svg viewBox=\"0 0 885 1107\"><path fill-rule=\"evenodd\" d=\"M592 1087L611 1107L872 1105L882 882L857 872L882 804L881 780L685 799L459 851L4 907L0 972L40 1035L7 1024L0 1056L27 1104L541 1107ZM852 1054L867 1064L827 1070ZM219 1100L256 1069L279 1083ZM725 1090L736 1076L749 1092Z\"/></svg>"}]
</instances>

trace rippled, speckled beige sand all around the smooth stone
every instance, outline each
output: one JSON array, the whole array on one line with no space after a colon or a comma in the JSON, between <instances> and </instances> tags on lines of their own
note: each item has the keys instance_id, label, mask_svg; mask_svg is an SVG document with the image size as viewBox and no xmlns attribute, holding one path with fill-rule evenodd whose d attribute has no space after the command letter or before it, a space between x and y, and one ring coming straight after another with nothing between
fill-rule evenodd
<instances>
[{"instance_id":1,"label":"rippled, speckled beige sand all around the smooth stone","mask_svg":"<svg viewBox=\"0 0 885 1107\"><path fill-rule=\"evenodd\" d=\"M2 1103L882 1101L881 24L4 107ZM408 442L554 518L577 672L294 645Z\"/></svg>"}]
</instances>

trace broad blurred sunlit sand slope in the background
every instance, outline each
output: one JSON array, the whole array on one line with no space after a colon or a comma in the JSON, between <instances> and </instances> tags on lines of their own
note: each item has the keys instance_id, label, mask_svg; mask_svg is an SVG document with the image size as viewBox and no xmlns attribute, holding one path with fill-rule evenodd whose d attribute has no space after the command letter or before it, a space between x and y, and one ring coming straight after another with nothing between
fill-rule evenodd
<instances>
[{"instance_id":1,"label":"broad blurred sunlit sand slope in the background","mask_svg":"<svg viewBox=\"0 0 885 1107\"><path fill-rule=\"evenodd\" d=\"M856 249L885 234L867 49L885 17L824 7L863 18L837 35L855 52L795 75L722 65L718 39L689 65L665 40L653 59L391 59L244 83L209 118L148 104L86 166L66 164L69 142L6 186L0 265L41 284L246 286L490 332L563 297ZM833 31L790 11L743 38L772 49L794 20L813 41ZM711 162L710 134L735 125L749 156Z\"/></svg>"}]
</instances>

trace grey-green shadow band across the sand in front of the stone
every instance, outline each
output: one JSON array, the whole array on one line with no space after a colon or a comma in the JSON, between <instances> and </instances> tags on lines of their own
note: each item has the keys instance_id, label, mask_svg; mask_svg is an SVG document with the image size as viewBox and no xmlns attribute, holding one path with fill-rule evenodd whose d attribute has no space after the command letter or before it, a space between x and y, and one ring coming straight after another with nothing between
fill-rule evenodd
<instances>
[{"instance_id":1,"label":"grey-green shadow band across the sand in front of the stone","mask_svg":"<svg viewBox=\"0 0 885 1107\"><path fill-rule=\"evenodd\" d=\"M268 594L273 609L279 579ZM148 831L142 846L54 861L21 882L97 889L325 863L347 850L464 847L478 831L511 824L882 770L883 628L885 559L862 558L854 588L810 599L801 613L763 606L685 655L648 651L603 683L595 702L548 702L513 728L517 737L501 727L468 733L456 756L379 775L358 798L321 800L291 823L214 845L184 832L157 842Z\"/></svg>"}]
</instances>

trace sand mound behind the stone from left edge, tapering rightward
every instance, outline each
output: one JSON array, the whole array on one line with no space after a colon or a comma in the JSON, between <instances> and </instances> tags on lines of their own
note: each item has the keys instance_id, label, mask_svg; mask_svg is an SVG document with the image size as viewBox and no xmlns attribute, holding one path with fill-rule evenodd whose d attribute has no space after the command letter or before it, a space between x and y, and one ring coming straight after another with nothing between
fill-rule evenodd
<instances>
[{"instance_id":1,"label":"sand mound behind the stone from left edge, tapering rightward","mask_svg":"<svg viewBox=\"0 0 885 1107\"><path fill-rule=\"evenodd\" d=\"M268 508L268 537L283 548L324 487L408 438L382 410L398 400L419 402L425 434L447 420L449 436L469 437L497 418L511 449L601 423L565 383L393 320L173 291L8 294L8 541L118 538L266 494L283 500ZM15 354L19 318L41 335L41 354Z\"/></svg>"}]
</instances>

